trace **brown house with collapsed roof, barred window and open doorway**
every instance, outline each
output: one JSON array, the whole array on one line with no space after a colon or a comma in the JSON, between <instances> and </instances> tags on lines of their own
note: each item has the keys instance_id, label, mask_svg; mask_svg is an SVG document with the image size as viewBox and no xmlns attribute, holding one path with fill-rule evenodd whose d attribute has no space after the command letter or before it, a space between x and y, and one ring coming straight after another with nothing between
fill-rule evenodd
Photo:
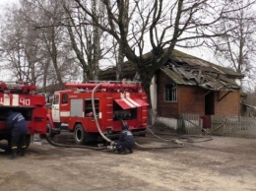
<instances>
[{"instance_id":1,"label":"brown house with collapsed roof, barred window and open doorway","mask_svg":"<svg viewBox=\"0 0 256 191\"><path fill-rule=\"evenodd\" d=\"M125 78L135 76L132 63L124 66ZM115 80L114 69L102 71L99 78ZM243 78L231 69L175 50L152 80L153 110L160 122L174 128L182 113L239 116Z\"/></svg>"}]
</instances>

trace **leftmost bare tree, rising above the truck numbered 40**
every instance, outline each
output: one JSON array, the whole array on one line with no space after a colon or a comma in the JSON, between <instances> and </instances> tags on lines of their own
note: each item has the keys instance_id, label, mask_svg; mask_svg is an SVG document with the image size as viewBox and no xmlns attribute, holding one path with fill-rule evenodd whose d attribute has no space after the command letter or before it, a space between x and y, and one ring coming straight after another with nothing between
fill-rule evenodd
<instances>
[{"instance_id":1,"label":"leftmost bare tree, rising above the truck numbered 40","mask_svg":"<svg viewBox=\"0 0 256 191\"><path fill-rule=\"evenodd\" d=\"M43 74L38 62L40 54L37 32L32 32L30 24L23 20L23 16L18 7L7 13L5 28L1 32L2 56L6 61L6 69L13 71L14 78L35 83Z\"/></svg>"}]
</instances>

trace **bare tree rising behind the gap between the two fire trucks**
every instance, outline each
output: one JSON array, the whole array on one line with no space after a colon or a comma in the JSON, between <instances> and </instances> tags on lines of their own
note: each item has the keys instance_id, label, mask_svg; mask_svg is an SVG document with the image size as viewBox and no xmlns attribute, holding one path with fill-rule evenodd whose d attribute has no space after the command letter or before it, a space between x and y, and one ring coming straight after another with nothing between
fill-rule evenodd
<instances>
[{"instance_id":1,"label":"bare tree rising behind the gap between the two fire trucks","mask_svg":"<svg viewBox=\"0 0 256 191\"><path fill-rule=\"evenodd\" d=\"M60 26L63 19L62 1L21 0L24 18L30 23L33 32L38 32L37 43L43 58L43 87L76 79L78 68L74 64L71 44L65 28ZM30 10L30 11L29 11ZM28 14L30 13L30 14ZM41 26L47 26L46 28Z\"/></svg>"}]
</instances>

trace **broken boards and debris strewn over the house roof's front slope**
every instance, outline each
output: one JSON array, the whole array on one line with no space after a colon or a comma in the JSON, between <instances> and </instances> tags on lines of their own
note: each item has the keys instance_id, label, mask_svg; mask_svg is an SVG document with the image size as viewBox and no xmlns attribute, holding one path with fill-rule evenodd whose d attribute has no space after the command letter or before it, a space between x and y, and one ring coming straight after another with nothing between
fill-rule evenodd
<instances>
[{"instance_id":1,"label":"broken boards and debris strewn over the house roof's front slope","mask_svg":"<svg viewBox=\"0 0 256 191\"><path fill-rule=\"evenodd\" d=\"M179 85L197 85L213 91L239 89L235 80L244 76L224 67L196 58L170 57L160 69ZM173 72L175 74L173 74Z\"/></svg>"}]
</instances>

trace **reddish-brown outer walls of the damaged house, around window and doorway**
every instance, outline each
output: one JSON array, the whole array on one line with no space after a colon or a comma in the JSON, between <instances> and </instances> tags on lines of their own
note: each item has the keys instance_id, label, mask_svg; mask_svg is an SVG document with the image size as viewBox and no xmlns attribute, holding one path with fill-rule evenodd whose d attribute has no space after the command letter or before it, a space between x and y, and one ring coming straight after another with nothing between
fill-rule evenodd
<instances>
[{"instance_id":1,"label":"reddish-brown outer walls of the damaged house, around window and doorway","mask_svg":"<svg viewBox=\"0 0 256 191\"><path fill-rule=\"evenodd\" d=\"M164 101L165 84L173 83L168 76L162 72L158 72L158 114L160 117L177 118L181 113L194 113L205 115L205 96L208 92L197 86L181 86L177 87L177 102ZM213 103L214 114L222 115L239 115L240 113L240 94L239 91L229 93L215 92L215 102ZM218 94L220 94L218 96ZM218 101L220 97L224 98ZM213 101L213 100L212 100ZM210 104L211 105L211 104Z\"/></svg>"}]
</instances>

